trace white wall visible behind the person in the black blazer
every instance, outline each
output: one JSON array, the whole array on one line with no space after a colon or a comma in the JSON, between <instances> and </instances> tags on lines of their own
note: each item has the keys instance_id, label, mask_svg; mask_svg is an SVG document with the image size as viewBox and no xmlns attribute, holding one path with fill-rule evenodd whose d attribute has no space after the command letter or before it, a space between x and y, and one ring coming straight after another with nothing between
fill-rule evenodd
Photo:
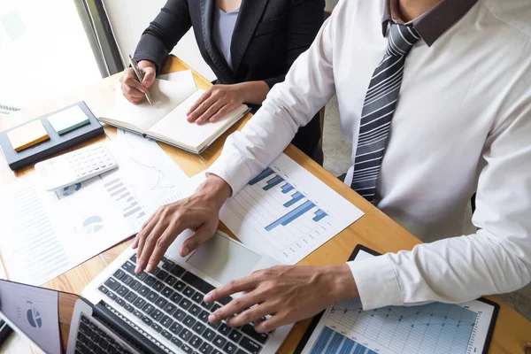
<instances>
[{"instance_id":1,"label":"white wall visible behind the person in the black blazer","mask_svg":"<svg viewBox=\"0 0 531 354\"><path fill-rule=\"evenodd\" d=\"M337 2L338 0L327 0L327 11L332 11ZM127 56L134 53L142 31L155 19L164 4L165 0L104 0L124 63L128 63ZM201 57L192 30L184 35L172 53L206 79L212 81L216 78Z\"/></svg>"}]
</instances>

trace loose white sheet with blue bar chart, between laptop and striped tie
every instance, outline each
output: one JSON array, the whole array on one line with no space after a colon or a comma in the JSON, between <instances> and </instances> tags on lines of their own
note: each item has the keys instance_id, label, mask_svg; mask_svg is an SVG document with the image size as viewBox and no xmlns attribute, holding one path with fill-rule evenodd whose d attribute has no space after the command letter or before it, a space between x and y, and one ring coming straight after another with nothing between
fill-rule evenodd
<instances>
[{"instance_id":1,"label":"loose white sheet with blue bar chart, between laptop and striped tie","mask_svg":"<svg viewBox=\"0 0 531 354\"><path fill-rule=\"evenodd\" d=\"M250 248L295 264L362 215L282 154L227 201L220 219Z\"/></svg>"}]
</instances>

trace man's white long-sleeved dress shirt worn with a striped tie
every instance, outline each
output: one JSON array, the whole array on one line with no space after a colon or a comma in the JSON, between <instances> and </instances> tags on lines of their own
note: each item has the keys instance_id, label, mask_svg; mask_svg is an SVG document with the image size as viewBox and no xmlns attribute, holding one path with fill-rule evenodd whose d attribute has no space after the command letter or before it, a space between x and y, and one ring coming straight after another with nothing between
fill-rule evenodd
<instances>
[{"instance_id":1,"label":"man's white long-sleeved dress shirt worn with a striped tie","mask_svg":"<svg viewBox=\"0 0 531 354\"><path fill-rule=\"evenodd\" d=\"M342 0L210 172L237 193L334 94L353 160L387 48L382 12L383 0ZM375 204L427 243L350 263L366 310L460 303L531 281L530 19L529 0L480 0L406 58Z\"/></svg>"}]
</instances>

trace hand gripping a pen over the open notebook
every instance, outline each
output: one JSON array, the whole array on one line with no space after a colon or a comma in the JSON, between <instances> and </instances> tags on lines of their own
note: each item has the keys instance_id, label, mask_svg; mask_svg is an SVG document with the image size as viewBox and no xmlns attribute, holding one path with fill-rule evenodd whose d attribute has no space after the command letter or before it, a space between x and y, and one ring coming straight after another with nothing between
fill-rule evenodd
<instances>
[{"instance_id":1,"label":"hand gripping a pen over the open notebook","mask_svg":"<svg viewBox=\"0 0 531 354\"><path fill-rule=\"evenodd\" d=\"M141 60L138 62L140 73L142 73L142 83L138 82L135 71L132 67L127 67L124 70L122 77L119 79L121 82L121 89L127 100L133 104L139 104L146 97L144 93L146 89L149 89L153 81L155 80L155 64L149 60Z\"/></svg>"}]
</instances>

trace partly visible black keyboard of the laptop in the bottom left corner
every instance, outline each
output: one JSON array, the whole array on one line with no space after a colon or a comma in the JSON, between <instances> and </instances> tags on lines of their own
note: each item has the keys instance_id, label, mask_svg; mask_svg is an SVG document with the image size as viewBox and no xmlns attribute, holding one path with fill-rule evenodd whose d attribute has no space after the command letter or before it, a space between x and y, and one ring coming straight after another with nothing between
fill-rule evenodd
<instances>
[{"instance_id":1,"label":"partly visible black keyboard of the laptop in the bottom left corner","mask_svg":"<svg viewBox=\"0 0 531 354\"><path fill-rule=\"evenodd\" d=\"M131 354L89 317L81 315L75 342L75 354Z\"/></svg>"}]
</instances>

